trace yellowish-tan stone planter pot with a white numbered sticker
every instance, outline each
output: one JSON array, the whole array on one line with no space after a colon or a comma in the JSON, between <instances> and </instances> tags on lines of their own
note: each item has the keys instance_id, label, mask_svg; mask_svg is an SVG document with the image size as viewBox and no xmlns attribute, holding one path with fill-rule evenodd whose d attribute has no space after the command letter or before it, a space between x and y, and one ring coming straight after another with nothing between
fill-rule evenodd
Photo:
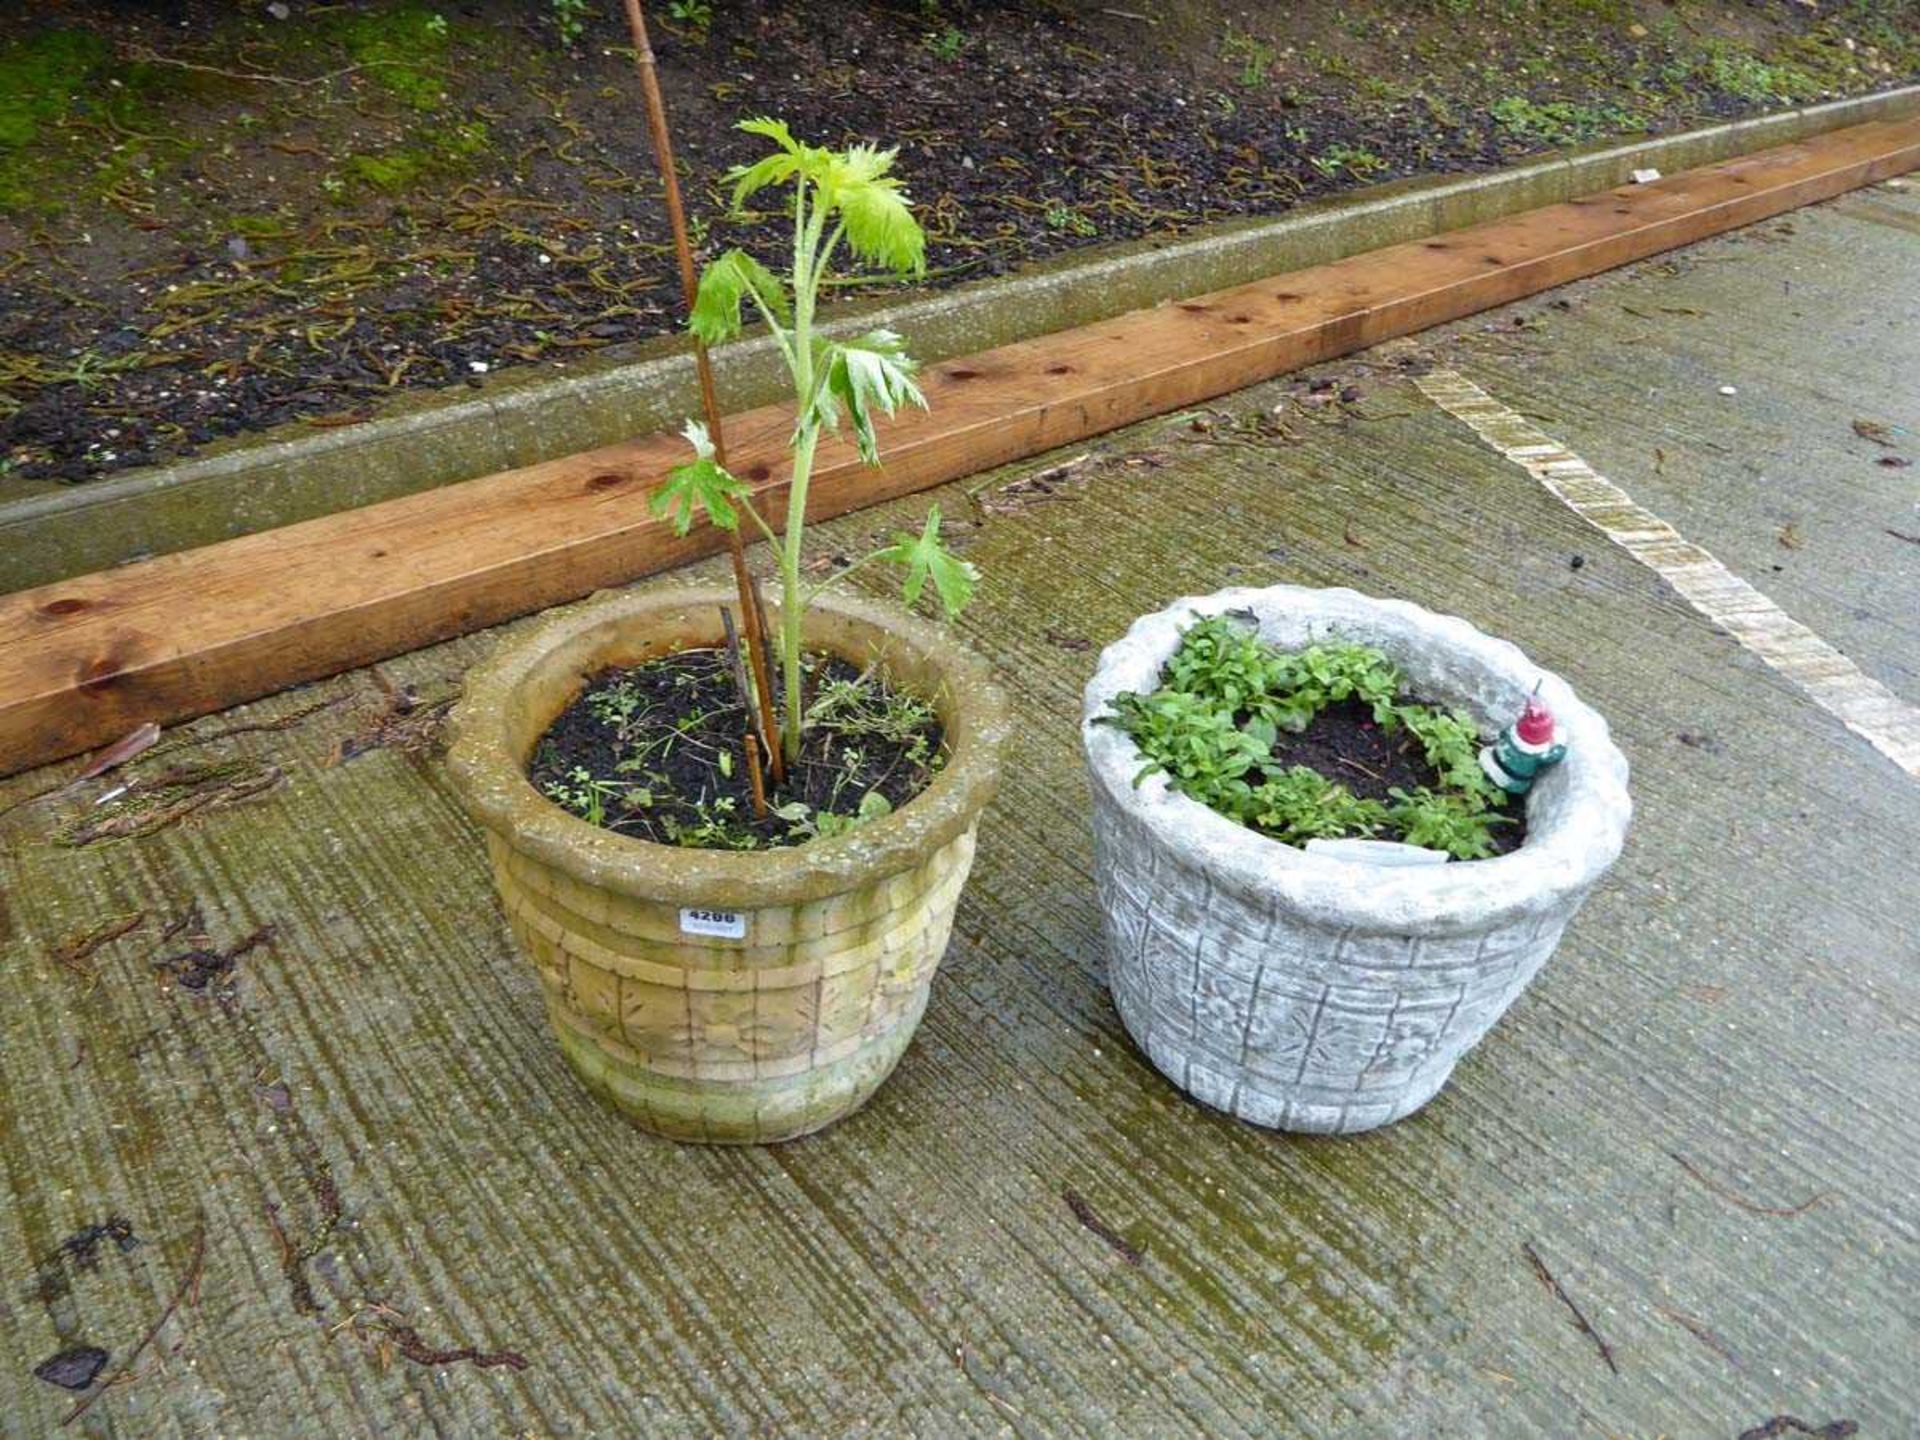
<instances>
[{"instance_id":1,"label":"yellowish-tan stone planter pot with a white numbered sticker","mask_svg":"<svg viewBox=\"0 0 1920 1440\"><path fill-rule=\"evenodd\" d=\"M722 643L732 589L601 595L467 678L447 766L574 1073L643 1129L770 1142L860 1108L927 1004L1006 703L985 666L899 611L822 599L806 643L929 699L948 762L897 812L780 851L689 851L589 826L526 778L536 741L609 664ZM778 630L778 622L776 622Z\"/></svg>"}]
</instances>

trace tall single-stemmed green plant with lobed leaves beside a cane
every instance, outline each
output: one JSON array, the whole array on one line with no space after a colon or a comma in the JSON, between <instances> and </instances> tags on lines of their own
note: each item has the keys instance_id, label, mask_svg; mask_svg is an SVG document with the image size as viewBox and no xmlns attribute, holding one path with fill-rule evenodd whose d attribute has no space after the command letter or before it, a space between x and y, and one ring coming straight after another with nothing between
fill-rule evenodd
<instances>
[{"instance_id":1,"label":"tall single-stemmed green plant with lobed leaves beside a cane","mask_svg":"<svg viewBox=\"0 0 1920 1440\"><path fill-rule=\"evenodd\" d=\"M780 568L780 678L785 691L781 749L787 762L801 756L803 705L801 636L808 603L828 586L874 563L904 570L902 597L920 601L931 586L948 618L973 595L977 570L947 549L941 540L941 513L927 513L918 534L899 534L864 559L854 561L816 586L803 582L806 540L806 499L820 438L849 432L860 459L879 465L876 420L906 405L925 409L925 396L914 382L916 365L893 330L870 330L852 340L829 340L818 328L820 290L831 280L835 255L845 248L854 259L897 275L925 271L925 234L908 207L893 150L851 146L828 150L793 138L778 119L741 121L741 131L772 144L772 154L728 173L733 209L770 186L789 190L793 250L776 275L745 250L728 250L701 273L689 321L707 344L735 338L753 313L766 324L793 380L795 426L789 442L791 480L787 522L778 532L756 509L745 505L749 488L730 474L714 455L707 426L687 420L685 438L693 459L672 470L653 493L655 515L670 516L680 534L695 518L733 530L741 513L762 530Z\"/></svg>"}]
</instances>

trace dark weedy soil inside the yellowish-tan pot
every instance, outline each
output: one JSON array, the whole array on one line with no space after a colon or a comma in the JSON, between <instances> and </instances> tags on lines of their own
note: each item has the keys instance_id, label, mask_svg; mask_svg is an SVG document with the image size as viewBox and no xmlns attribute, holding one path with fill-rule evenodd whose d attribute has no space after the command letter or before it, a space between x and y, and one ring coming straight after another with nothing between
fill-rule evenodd
<instances>
[{"instance_id":1,"label":"dark weedy soil inside the yellowish-tan pot","mask_svg":"<svg viewBox=\"0 0 1920 1440\"><path fill-rule=\"evenodd\" d=\"M839 657L804 664L804 705L829 689L841 703L806 728L785 785L766 776L766 818L753 812L747 710L722 649L593 674L540 737L528 778L584 820L691 849L803 845L858 822L862 806L885 814L920 795L945 762L933 708Z\"/></svg>"}]
</instances>

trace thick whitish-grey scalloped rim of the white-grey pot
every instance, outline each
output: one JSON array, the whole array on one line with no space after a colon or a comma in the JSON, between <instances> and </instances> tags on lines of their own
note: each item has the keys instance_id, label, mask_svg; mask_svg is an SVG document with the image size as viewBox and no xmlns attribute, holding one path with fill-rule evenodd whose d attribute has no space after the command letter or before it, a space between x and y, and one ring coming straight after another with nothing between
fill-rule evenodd
<instances>
[{"instance_id":1,"label":"thick whitish-grey scalloped rim of the white-grey pot","mask_svg":"<svg viewBox=\"0 0 1920 1440\"><path fill-rule=\"evenodd\" d=\"M1133 737L1094 720L1112 710L1116 695L1156 689L1187 628L1223 611L1254 611L1261 618L1298 614L1308 634L1284 643L1352 637L1380 645L1419 689L1467 705L1488 720L1517 712L1538 682L1559 722L1559 737L1567 741L1567 758L1532 789L1526 841L1492 860L1377 868L1308 854L1260 835L1181 795L1162 774L1135 785L1140 753ZM1139 618L1100 653L1087 684L1081 732L1094 785L1158 845L1190 856L1215 885L1327 927L1450 933L1576 902L1619 858L1632 818L1626 756L1613 743L1607 722L1565 680L1459 616L1344 588L1221 589L1177 599Z\"/></svg>"}]
</instances>

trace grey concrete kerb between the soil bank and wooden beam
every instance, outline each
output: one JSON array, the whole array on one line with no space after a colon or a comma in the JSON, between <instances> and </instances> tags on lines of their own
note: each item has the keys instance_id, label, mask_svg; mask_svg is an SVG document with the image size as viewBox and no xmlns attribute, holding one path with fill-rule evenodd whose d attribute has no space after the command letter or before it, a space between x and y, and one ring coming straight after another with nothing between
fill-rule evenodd
<instances>
[{"instance_id":1,"label":"grey concrete kerb between the soil bank and wooden beam","mask_svg":"<svg viewBox=\"0 0 1920 1440\"><path fill-rule=\"evenodd\" d=\"M1171 244L1079 252L899 303L852 303L833 328L887 324L912 338L918 357L950 359L1559 204L1636 169L1674 173L1916 111L1920 86L1903 86L1486 175L1396 180ZM785 374L766 340L726 346L714 365L730 411L781 394ZM0 505L0 593L676 428L697 407L691 355L662 338L559 376L530 371L488 380L480 394L409 397L367 424L286 426L182 465L50 488Z\"/></svg>"}]
</instances>

